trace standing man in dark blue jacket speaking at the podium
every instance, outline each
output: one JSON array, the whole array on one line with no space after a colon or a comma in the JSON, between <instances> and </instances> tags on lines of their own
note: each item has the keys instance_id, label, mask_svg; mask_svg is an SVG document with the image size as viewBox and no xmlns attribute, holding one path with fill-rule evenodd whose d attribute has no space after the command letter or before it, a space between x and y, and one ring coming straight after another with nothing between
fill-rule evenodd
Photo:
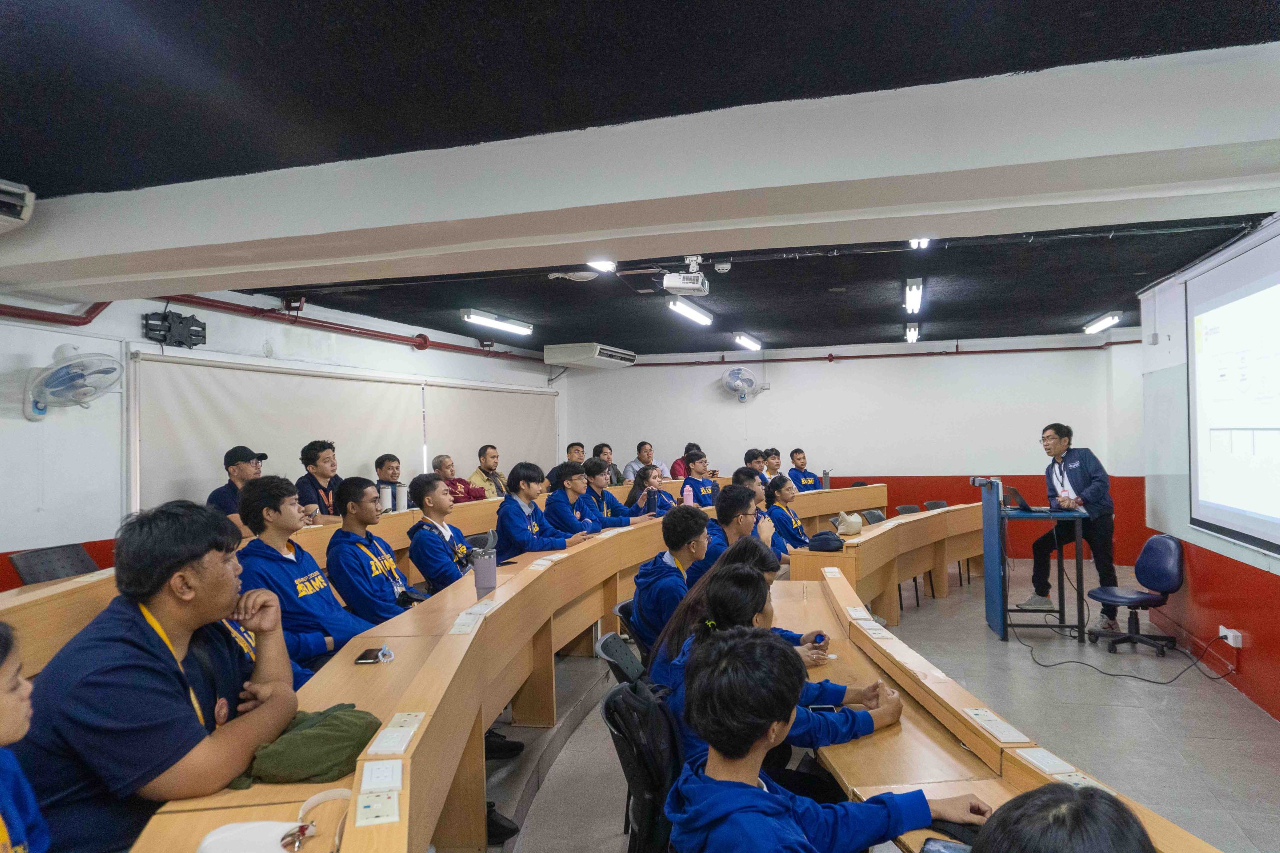
<instances>
[{"instance_id":1,"label":"standing man in dark blue jacket speaking at the podium","mask_svg":"<svg viewBox=\"0 0 1280 853\"><path fill-rule=\"evenodd\" d=\"M1115 504L1111 501L1111 478L1106 468L1088 448L1073 448L1071 427L1065 423L1050 423L1041 434L1044 453L1052 457L1044 469L1048 486L1048 505L1051 509L1083 509L1089 514L1082 527L1084 541L1093 550L1093 564L1098 569L1101 586L1116 586L1115 552ZM1032 583L1036 595L1018 605L1023 610L1057 610L1048 597L1052 584L1048 582L1050 555L1059 547L1075 542L1075 522L1060 520L1048 533L1032 545L1034 563ZM1102 605L1102 613L1089 627L1091 630L1120 630L1116 622L1116 606Z\"/></svg>"}]
</instances>

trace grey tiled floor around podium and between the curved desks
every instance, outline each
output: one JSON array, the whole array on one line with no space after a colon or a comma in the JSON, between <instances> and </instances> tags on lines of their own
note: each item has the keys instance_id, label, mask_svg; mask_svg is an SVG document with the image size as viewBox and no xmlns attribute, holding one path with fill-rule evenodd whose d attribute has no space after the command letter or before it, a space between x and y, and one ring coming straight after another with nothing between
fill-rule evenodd
<instances>
[{"instance_id":1,"label":"grey tiled floor around podium and between the curved desks","mask_svg":"<svg viewBox=\"0 0 1280 853\"><path fill-rule=\"evenodd\" d=\"M1015 601L1030 593L1029 574L1019 561ZM1097 575L1087 565L1089 577ZM1280 853L1280 721L1194 669L1157 685L1076 664L1037 666L1025 647L1012 638L1002 643L987 628L974 581L937 601L922 584L919 610L904 587L902 624L892 630L1044 747L1224 852ZM1134 586L1132 572L1121 569L1120 583ZM1188 662L1151 650L1110 655L1050 630L1020 633L1042 662L1084 660L1156 680ZM608 732L598 712L589 714L539 790L516 849L621 853L625 799Z\"/></svg>"}]
</instances>

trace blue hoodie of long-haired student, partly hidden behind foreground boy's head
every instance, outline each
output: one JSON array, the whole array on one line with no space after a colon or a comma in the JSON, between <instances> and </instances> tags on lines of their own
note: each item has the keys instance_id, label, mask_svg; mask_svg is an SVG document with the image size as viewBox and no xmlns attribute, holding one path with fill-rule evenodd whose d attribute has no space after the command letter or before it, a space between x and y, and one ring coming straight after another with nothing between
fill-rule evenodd
<instances>
[{"instance_id":1,"label":"blue hoodie of long-haired student, partly hidden behind foreground boy's head","mask_svg":"<svg viewBox=\"0 0 1280 853\"><path fill-rule=\"evenodd\" d=\"M654 650L649 661L649 678L657 684L671 688L666 702L680 721L680 739L685 746L685 761L699 761L707 756L707 742L685 723L685 666L692 653L694 638L685 641L684 648L675 659L667 659ZM842 707L831 711L810 711L809 705L842 705L849 688L829 680L805 682L800 691L800 707L796 720L791 724L787 743L795 747L829 747L861 738L876 730L876 720L869 711L855 711ZM850 848L859 849L859 848Z\"/></svg>"}]
</instances>

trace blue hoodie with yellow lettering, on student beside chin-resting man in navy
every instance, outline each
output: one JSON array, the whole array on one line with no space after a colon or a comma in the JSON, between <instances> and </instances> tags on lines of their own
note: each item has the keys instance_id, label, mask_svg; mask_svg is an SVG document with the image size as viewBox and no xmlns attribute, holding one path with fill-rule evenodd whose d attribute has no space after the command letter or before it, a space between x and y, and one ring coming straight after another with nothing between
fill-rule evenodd
<instances>
[{"instance_id":1,"label":"blue hoodie with yellow lettering, on student beside chin-resting man in navy","mask_svg":"<svg viewBox=\"0 0 1280 853\"><path fill-rule=\"evenodd\" d=\"M333 637L334 651L347 645L372 623L343 610L315 558L289 540L294 559L276 551L262 540L252 540L239 550L242 590L270 590L280 600L280 620L289 657L303 666L328 655L325 637ZM312 668L314 669L314 668Z\"/></svg>"}]
</instances>

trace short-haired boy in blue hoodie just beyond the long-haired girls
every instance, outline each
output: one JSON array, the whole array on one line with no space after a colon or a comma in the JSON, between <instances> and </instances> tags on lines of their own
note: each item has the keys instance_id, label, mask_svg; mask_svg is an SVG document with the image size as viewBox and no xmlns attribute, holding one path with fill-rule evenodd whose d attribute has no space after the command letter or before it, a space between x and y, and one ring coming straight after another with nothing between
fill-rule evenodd
<instances>
[{"instance_id":1,"label":"short-haired boy in blue hoodie just beyond the long-haired girls","mask_svg":"<svg viewBox=\"0 0 1280 853\"><path fill-rule=\"evenodd\" d=\"M689 592L685 567L707 554L707 513L696 506L676 506L662 519L662 541L667 550L636 572L631 600L631 628L646 648L653 648Z\"/></svg>"}]
</instances>

